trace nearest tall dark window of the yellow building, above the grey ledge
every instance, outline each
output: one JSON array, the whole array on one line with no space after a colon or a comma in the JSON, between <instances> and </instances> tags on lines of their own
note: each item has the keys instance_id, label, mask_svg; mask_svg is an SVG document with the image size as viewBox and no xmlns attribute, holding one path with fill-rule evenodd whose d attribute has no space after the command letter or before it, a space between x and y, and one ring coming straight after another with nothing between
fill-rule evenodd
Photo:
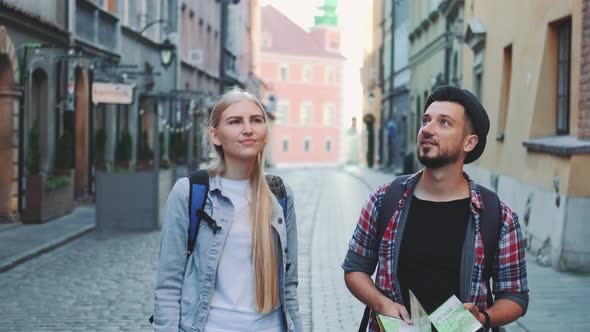
<instances>
[{"instance_id":1,"label":"nearest tall dark window of the yellow building, above the grey ledge","mask_svg":"<svg viewBox=\"0 0 590 332\"><path fill-rule=\"evenodd\" d=\"M570 77L572 49L572 21L557 26L557 135L570 131Z\"/></svg>"}]
</instances>

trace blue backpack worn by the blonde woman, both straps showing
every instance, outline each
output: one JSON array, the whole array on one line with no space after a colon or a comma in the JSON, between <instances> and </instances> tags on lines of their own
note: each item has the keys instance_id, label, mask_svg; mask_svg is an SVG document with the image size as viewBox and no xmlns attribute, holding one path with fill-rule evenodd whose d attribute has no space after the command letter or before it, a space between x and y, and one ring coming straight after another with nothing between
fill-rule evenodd
<instances>
[{"instance_id":1,"label":"blue backpack worn by the blonde woman, both straps showing","mask_svg":"<svg viewBox=\"0 0 590 332\"><path fill-rule=\"evenodd\" d=\"M213 229L213 233L221 230L217 223L207 213L205 213L205 203L207 202L207 195L209 194L209 173L206 169L199 169L194 171L189 176L190 192L188 201L188 242L187 242L187 259L193 253L195 244L197 243L197 235L199 234L199 223L204 220L209 227ZM287 222L287 189L281 179L277 175L265 174L266 183L270 191L275 195L279 204L283 208L283 218ZM150 324L154 323L154 316L149 318Z\"/></svg>"}]
</instances>

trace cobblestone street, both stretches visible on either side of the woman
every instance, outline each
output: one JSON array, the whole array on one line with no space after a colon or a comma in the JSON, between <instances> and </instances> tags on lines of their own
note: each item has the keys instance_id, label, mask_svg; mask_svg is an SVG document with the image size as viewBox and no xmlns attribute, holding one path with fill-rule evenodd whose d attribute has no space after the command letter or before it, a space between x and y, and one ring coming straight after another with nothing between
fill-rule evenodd
<instances>
[{"instance_id":1,"label":"cobblestone street, both stretches visible on either side of the woman","mask_svg":"<svg viewBox=\"0 0 590 332\"><path fill-rule=\"evenodd\" d=\"M369 191L335 169L276 173L295 192L305 331L353 331L363 307L340 263ZM0 274L0 331L151 330L159 239L92 232Z\"/></svg>"}]
</instances>

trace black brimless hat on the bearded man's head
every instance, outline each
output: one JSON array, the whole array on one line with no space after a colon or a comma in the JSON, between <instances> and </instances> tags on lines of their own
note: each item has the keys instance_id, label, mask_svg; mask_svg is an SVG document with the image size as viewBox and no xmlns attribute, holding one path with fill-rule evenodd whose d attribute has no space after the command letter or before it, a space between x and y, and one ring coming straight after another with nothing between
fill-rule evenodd
<instances>
[{"instance_id":1,"label":"black brimless hat on the bearded man's head","mask_svg":"<svg viewBox=\"0 0 590 332\"><path fill-rule=\"evenodd\" d=\"M475 148L465 157L464 163L469 164L477 160L486 147L486 137L490 131L490 119L477 97L467 89L460 89L452 85L443 85L432 91L426 100L424 111L435 101L449 101L463 106L465 114L471 120L473 130L479 138Z\"/></svg>"}]
</instances>

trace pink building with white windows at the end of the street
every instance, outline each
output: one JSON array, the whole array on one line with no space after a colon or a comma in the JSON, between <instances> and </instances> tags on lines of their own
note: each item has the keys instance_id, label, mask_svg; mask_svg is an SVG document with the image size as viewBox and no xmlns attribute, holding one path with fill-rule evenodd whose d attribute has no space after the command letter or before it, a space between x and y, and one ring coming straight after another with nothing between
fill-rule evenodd
<instances>
[{"instance_id":1,"label":"pink building with white windows at the end of the street","mask_svg":"<svg viewBox=\"0 0 590 332\"><path fill-rule=\"evenodd\" d=\"M335 4L306 32L262 8L261 77L275 97L270 160L275 166L336 165L340 157L340 33Z\"/></svg>"}]
</instances>

